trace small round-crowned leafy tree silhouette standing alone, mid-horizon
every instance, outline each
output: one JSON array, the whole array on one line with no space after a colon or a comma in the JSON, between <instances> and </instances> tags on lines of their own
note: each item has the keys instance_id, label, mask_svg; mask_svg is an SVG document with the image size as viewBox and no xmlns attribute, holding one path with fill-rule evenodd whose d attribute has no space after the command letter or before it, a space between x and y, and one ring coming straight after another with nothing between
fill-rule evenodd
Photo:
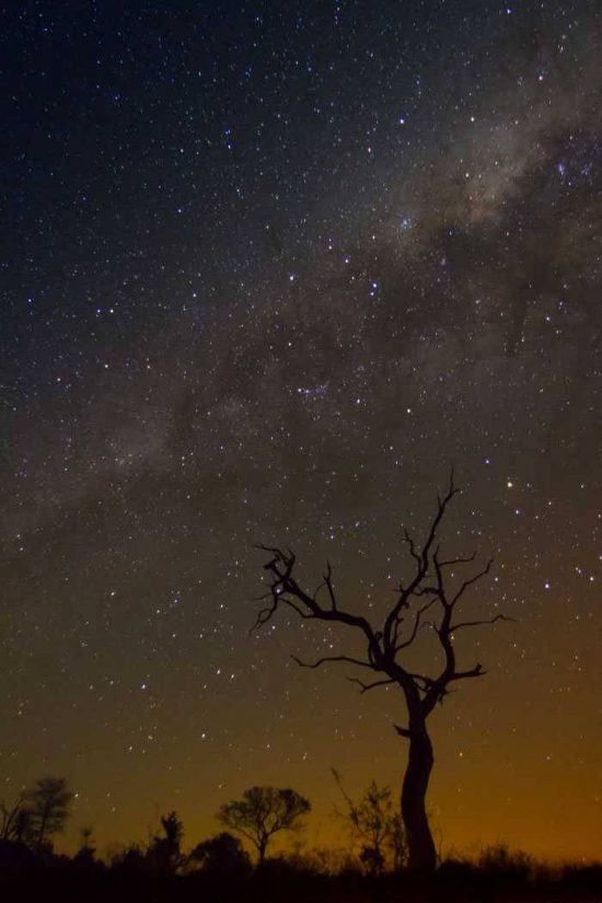
<instances>
[{"instance_id":1,"label":"small round-crowned leafy tree silhouette standing alone, mid-horizon","mask_svg":"<svg viewBox=\"0 0 602 903\"><path fill-rule=\"evenodd\" d=\"M242 799L222 806L218 820L251 841L262 864L274 834L299 830L302 817L310 810L310 801L290 788L251 787Z\"/></svg>"}]
</instances>

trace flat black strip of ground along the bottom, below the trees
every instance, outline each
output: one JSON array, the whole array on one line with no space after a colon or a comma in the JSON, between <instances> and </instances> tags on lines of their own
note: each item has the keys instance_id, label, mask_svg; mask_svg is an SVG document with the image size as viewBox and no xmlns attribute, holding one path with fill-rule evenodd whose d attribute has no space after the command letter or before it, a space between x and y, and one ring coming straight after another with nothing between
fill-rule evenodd
<instances>
[{"instance_id":1,"label":"flat black strip of ground along the bottom, below the trees","mask_svg":"<svg viewBox=\"0 0 602 903\"><path fill-rule=\"evenodd\" d=\"M437 875L400 873L374 880L358 872L316 875L281 861L246 879L165 876L101 865L78 868L70 860L25 865L0 872L0 901L65 903L560 903L602 901L602 866L542 869L476 869L447 863Z\"/></svg>"}]
</instances>

